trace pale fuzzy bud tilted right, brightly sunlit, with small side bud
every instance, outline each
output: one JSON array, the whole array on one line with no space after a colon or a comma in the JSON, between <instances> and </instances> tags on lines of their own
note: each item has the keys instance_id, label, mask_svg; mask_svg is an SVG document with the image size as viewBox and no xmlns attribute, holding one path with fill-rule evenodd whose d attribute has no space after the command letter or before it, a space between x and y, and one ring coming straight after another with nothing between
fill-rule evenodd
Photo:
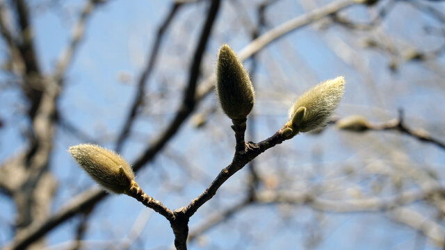
<instances>
[{"instance_id":1,"label":"pale fuzzy bud tilted right, brightly sunlit, with small side bud","mask_svg":"<svg viewBox=\"0 0 445 250\"><path fill-rule=\"evenodd\" d=\"M344 85L343 76L339 76L302 94L289 109L289 122L284 125L292 129L291 136L325 125L327 118L339 105Z\"/></svg>"}]
</instances>

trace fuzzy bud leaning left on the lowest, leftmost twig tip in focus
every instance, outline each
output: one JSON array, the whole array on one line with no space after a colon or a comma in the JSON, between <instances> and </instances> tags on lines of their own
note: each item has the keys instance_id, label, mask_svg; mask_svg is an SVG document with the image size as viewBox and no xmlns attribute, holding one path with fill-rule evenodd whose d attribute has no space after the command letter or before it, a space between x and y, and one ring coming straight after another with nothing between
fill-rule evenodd
<instances>
[{"instance_id":1,"label":"fuzzy bud leaning left on the lowest, leftmost twig tip in focus","mask_svg":"<svg viewBox=\"0 0 445 250\"><path fill-rule=\"evenodd\" d=\"M130 165L111 150L79 144L68 151L91 178L110 192L124 194L135 183Z\"/></svg>"}]
</instances>

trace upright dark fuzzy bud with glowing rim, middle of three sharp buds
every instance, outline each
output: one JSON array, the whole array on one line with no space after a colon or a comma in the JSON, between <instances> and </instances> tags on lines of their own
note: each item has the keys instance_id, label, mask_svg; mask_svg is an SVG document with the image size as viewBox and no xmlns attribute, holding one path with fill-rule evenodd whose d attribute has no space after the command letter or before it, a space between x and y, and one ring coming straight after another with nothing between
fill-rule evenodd
<instances>
[{"instance_id":1,"label":"upright dark fuzzy bud with glowing rim, middle of three sharp buds","mask_svg":"<svg viewBox=\"0 0 445 250\"><path fill-rule=\"evenodd\" d=\"M224 113L234 120L245 119L254 104L250 78L234 51L225 44L216 63L216 90Z\"/></svg>"}]
</instances>

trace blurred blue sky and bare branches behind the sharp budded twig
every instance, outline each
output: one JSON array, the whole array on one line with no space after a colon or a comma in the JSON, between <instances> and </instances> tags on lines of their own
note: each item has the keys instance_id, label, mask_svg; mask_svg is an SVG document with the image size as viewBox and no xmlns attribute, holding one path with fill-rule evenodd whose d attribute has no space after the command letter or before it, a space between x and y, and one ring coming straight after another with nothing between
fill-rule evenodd
<instances>
[{"instance_id":1,"label":"blurred blue sky and bare branches behind the sharp budded twig","mask_svg":"<svg viewBox=\"0 0 445 250\"><path fill-rule=\"evenodd\" d=\"M445 3L225 0L202 35L212 2L0 1L1 249L172 249L164 217L102 192L67 148L116 150L186 206L234 153L212 90L223 44L256 92L247 140L321 81L346 92L323 131L229 178L189 249L444 249Z\"/></svg>"}]
</instances>

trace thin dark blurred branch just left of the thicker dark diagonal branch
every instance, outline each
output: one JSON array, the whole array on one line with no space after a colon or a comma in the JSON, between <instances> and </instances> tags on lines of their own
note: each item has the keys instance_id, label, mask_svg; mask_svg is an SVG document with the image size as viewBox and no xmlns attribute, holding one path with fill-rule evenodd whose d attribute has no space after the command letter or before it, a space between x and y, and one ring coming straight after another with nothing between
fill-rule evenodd
<instances>
[{"instance_id":1,"label":"thin dark blurred branch just left of the thicker dark diagonal branch","mask_svg":"<svg viewBox=\"0 0 445 250\"><path fill-rule=\"evenodd\" d=\"M174 3L172 3L170 12L168 13L167 17L165 17L165 20L162 22L161 26L159 26L152 50L150 51L147 66L143 70L142 74L140 74L138 79L138 89L136 90L136 97L133 99L133 103L131 104L131 108L127 115L127 119L125 120L125 124L118 135L118 141L116 142L115 147L116 151L118 152L121 151L125 140L127 140L131 126L133 125L133 122L138 115L138 109L143 104L143 97L145 95L145 83L152 73L156 60L158 58L159 48L161 47L163 35L165 34L165 31L167 31L168 26L170 26L173 17L175 17L177 13L177 10L179 10L179 7L181 7L183 3L184 2L182 1L175 1Z\"/></svg>"}]
</instances>

